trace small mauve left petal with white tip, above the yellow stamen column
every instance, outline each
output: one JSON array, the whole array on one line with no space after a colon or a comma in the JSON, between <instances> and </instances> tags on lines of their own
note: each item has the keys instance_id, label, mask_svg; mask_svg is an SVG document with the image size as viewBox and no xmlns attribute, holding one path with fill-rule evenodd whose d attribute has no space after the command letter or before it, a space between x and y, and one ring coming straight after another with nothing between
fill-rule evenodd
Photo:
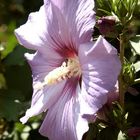
<instances>
[{"instance_id":1,"label":"small mauve left petal with white tip, above the yellow stamen column","mask_svg":"<svg viewBox=\"0 0 140 140\"><path fill-rule=\"evenodd\" d=\"M42 55L40 52L34 54L26 53L25 57L28 60L28 63L32 69L33 78L40 78L39 75L42 75L44 78L48 72L53 69L60 67L64 58L54 55L53 52L45 52L46 55ZM40 78L40 80L43 80Z\"/></svg>"}]
</instances>

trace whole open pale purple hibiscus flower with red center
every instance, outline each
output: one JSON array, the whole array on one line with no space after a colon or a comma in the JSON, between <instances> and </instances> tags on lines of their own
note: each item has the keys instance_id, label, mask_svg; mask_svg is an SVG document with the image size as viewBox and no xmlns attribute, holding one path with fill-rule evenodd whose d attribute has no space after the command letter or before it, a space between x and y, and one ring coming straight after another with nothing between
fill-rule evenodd
<instances>
[{"instance_id":1,"label":"whole open pale purple hibiscus flower with red center","mask_svg":"<svg viewBox=\"0 0 140 140\"><path fill-rule=\"evenodd\" d=\"M44 0L15 30L32 69L34 93L21 121L47 112L40 133L50 140L81 140L85 115L106 102L120 71L117 51L103 37L91 41L93 0Z\"/></svg>"}]
</instances>

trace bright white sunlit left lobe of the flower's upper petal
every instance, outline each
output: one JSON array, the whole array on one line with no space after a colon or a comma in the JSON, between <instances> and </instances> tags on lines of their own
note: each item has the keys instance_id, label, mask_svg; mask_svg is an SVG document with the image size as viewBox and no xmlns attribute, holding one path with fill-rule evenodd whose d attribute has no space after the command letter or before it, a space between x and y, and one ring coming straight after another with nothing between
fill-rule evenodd
<instances>
[{"instance_id":1,"label":"bright white sunlit left lobe of the flower's upper petal","mask_svg":"<svg viewBox=\"0 0 140 140\"><path fill-rule=\"evenodd\" d=\"M15 35L21 45L29 49L44 50L44 38L47 34L47 31L45 29L46 25L47 18L45 8L44 6L42 6L39 12L31 13L28 17L28 21L15 30Z\"/></svg>"}]
</instances>

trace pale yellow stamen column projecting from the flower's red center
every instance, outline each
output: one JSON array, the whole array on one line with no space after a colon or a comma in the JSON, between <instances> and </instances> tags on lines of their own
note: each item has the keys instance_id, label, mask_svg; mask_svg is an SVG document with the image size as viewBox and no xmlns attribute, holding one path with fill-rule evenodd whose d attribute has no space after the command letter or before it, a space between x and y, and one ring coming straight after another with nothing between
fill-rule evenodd
<instances>
[{"instance_id":1,"label":"pale yellow stamen column projecting from the flower's red center","mask_svg":"<svg viewBox=\"0 0 140 140\"><path fill-rule=\"evenodd\" d=\"M45 76L44 81L42 83L36 84L35 88L41 89L45 85L56 84L62 80L80 76L81 68L78 58L68 58L62 63L60 67L50 71L48 75Z\"/></svg>"}]
</instances>

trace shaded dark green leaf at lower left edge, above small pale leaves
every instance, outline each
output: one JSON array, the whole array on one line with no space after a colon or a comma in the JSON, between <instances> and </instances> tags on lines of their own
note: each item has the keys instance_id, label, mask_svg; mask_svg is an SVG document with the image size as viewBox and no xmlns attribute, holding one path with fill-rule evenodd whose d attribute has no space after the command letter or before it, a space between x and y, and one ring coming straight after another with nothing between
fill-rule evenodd
<instances>
[{"instance_id":1,"label":"shaded dark green leaf at lower left edge, above small pale leaves","mask_svg":"<svg viewBox=\"0 0 140 140\"><path fill-rule=\"evenodd\" d=\"M23 109L24 97L20 91L1 90L0 91L0 117L8 121L17 120Z\"/></svg>"}]
</instances>

